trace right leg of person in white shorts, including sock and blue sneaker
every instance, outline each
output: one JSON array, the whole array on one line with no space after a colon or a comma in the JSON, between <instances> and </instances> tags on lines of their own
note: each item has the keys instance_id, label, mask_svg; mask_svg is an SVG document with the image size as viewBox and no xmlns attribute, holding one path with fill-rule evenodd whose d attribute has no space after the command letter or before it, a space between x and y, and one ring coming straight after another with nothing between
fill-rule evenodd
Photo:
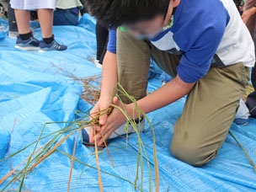
<instances>
[{"instance_id":1,"label":"right leg of person in white shorts, including sock and blue sneaker","mask_svg":"<svg viewBox=\"0 0 256 192\"><path fill-rule=\"evenodd\" d=\"M39 9L37 13L43 36L43 40L40 42L40 52L67 50L66 45L60 45L54 40L54 35L52 34L53 10L43 8Z\"/></svg>"}]
</instances>

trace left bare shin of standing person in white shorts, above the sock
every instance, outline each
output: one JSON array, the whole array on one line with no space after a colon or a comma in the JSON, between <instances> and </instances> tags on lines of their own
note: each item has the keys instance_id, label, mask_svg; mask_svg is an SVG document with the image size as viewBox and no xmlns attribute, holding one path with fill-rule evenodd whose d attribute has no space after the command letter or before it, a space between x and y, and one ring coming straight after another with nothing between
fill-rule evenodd
<instances>
[{"instance_id":1,"label":"left bare shin of standing person in white shorts, above the sock","mask_svg":"<svg viewBox=\"0 0 256 192\"><path fill-rule=\"evenodd\" d=\"M15 9L15 18L18 25L19 35L29 34L30 12L26 10Z\"/></svg>"}]
</instances>

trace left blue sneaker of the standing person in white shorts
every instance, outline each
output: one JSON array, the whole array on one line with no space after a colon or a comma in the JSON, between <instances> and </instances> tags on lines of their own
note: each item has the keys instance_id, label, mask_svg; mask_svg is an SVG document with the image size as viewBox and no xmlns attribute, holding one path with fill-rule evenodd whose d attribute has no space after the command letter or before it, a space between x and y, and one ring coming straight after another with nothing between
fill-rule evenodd
<instances>
[{"instance_id":1,"label":"left blue sneaker of the standing person in white shorts","mask_svg":"<svg viewBox=\"0 0 256 192\"><path fill-rule=\"evenodd\" d=\"M35 51L39 50L40 40L35 39L34 36L30 37L29 40L21 40L17 36L15 48L23 51Z\"/></svg>"}]
</instances>

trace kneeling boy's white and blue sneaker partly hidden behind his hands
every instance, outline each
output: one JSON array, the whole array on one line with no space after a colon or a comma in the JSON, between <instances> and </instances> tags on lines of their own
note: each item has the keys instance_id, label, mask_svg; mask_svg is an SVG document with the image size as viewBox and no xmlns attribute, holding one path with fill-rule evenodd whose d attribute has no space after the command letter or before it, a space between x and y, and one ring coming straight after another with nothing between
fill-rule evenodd
<instances>
[{"instance_id":1,"label":"kneeling boy's white and blue sneaker partly hidden behind his hands","mask_svg":"<svg viewBox=\"0 0 256 192\"><path fill-rule=\"evenodd\" d=\"M145 119L143 117L141 117L141 120L136 119L135 122L136 122L137 129L139 129L141 132L143 132L144 126L145 126ZM82 130L82 141L83 141L83 144L87 147L94 146L94 144L89 143L89 132L90 132L90 127L86 127ZM135 133L135 132L136 131L131 126L131 124L128 125L128 129L127 129L127 126L125 123L125 124L121 125L118 129L116 129L115 132L111 134L111 136L109 136L108 141L115 139L118 136L125 136L127 133L131 134L131 133Z\"/></svg>"}]
</instances>

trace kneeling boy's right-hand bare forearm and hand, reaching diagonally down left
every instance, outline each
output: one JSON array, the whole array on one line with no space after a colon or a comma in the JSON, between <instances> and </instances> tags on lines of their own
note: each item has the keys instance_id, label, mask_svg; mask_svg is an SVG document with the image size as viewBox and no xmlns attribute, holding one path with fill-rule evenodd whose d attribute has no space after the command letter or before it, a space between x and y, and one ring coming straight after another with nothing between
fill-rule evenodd
<instances>
[{"instance_id":1,"label":"kneeling boy's right-hand bare forearm and hand, reaching diagonally down left","mask_svg":"<svg viewBox=\"0 0 256 192\"><path fill-rule=\"evenodd\" d=\"M138 100L137 105L143 112L147 114L184 97L184 95L188 94L192 88L194 88L194 86L195 83L185 83L180 79L179 76L177 76L162 88L157 89L157 91L154 93L151 93L147 97ZM138 111L135 109L134 104L124 105L121 104L116 98L114 99L114 104L118 105L120 108L125 108L125 111L131 117L139 117ZM116 128L125 123L125 120L125 115L123 115L119 109L114 109L112 114L109 115L107 123L97 130L97 135L94 137L94 139L97 141L98 146L102 145L102 143L108 139ZM93 141L93 135L91 138Z\"/></svg>"}]
</instances>

